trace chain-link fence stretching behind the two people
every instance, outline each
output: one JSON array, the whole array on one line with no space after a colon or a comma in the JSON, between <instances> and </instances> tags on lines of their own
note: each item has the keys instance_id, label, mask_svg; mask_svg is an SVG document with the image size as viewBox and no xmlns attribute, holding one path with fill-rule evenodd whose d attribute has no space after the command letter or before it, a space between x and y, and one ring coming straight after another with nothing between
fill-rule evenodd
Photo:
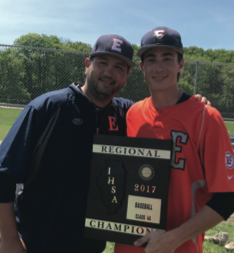
<instances>
[{"instance_id":1,"label":"chain-link fence stretching behind the two people","mask_svg":"<svg viewBox=\"0 0 234 253\"><path fill-rule=\"evenodd\" d=\"M76 51L0 44L0 141L21 108L32 99L72 82L83 83L88 56ZM134 61L137 66L117 96L138 101L150 93L139 59ZM188 94L207 97L222 114L230 135L234 135L234 64L185 61L178 86Z\"/></svg>"}]
</instances>

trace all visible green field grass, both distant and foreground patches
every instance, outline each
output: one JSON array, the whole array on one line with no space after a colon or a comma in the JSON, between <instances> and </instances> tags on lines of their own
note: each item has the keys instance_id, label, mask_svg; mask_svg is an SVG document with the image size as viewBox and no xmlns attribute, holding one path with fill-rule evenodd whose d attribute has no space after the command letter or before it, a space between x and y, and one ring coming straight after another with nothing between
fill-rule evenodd
<instances>
[{"instance_id":1,"label":"all visible green field grass, both distant and foreground patches","mask_svg":"<svg viewBox=\"0 0 234 253\"><path fill-rule=\"evenodd\" d=\"M6 136L16 118L21 113L22 109L17 108L0 108L0 143ZM234 122L225 122L230 135L234 135ZM215 235L217 231L227 232L229 241L234 239L234 214L226 222L222 222L218 226L208 230L206 235ZM204 242L204 253L224 253L227 252L223 246L216 245L212 242ZM113 253L114 243L108 242L103 253Z\"/></svg>"}]
</instances>

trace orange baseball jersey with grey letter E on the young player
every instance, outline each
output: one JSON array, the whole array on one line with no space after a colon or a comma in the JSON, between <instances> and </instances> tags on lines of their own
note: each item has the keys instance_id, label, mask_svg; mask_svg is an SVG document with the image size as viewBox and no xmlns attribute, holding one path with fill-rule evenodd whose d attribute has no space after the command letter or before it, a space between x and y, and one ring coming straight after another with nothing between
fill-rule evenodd
<instances>
[{"instance_id":1,"label":"orange baseball jersey with grey letter E on the young player","mask_svg":"<svg viewBox=\"0 0 234 253\"><path fill-rule=\"evenodd\" d=\"M133 105L127 115L131 137L172 139L167 228L193 217L214 192L234 191L233 148L220 113L195 97L156 110L151 98ZM204 234L175 252L201 253ZM116 244L115 253L140 253L140 247Z\"/></svg>"}]
</instances>

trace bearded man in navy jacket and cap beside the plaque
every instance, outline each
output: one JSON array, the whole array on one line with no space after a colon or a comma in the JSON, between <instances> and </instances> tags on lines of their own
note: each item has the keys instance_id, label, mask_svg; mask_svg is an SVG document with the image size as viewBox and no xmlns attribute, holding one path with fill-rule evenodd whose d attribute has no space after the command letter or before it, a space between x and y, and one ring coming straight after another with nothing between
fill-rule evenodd
<instances>
[{"instance_id":1,"label":"bearded man in navy jacket and cap beside the plaque","mask_svg":"<svg viewBox=\"0 0 234 253\"><path fill-rule=\"evenodd\" d=\"M126 134L133 102L112 98L132 57L123 37L101 36L82 88L46 93L22 111L0 146L0 253L82 252L93 135Z\"/></svg>"}]
</instances>

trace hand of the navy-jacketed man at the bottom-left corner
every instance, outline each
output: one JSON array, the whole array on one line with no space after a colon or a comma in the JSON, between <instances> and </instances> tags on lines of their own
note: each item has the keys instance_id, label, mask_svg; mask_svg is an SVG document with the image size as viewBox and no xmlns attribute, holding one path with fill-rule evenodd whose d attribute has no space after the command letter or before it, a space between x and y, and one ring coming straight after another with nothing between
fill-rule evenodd
<instances>
[{"instance_id":1,"label":"hand of the navy-jacketed man at the bottom-left corner","mask_svg":"<svg viewBox=\"0 0 234 253\"><path fill-rule=\"evenodd\" d=\"M0 253L27 253L26 246L21 238L14 242L4 242L0 244Z\"/></svg>"}]
</instances>

